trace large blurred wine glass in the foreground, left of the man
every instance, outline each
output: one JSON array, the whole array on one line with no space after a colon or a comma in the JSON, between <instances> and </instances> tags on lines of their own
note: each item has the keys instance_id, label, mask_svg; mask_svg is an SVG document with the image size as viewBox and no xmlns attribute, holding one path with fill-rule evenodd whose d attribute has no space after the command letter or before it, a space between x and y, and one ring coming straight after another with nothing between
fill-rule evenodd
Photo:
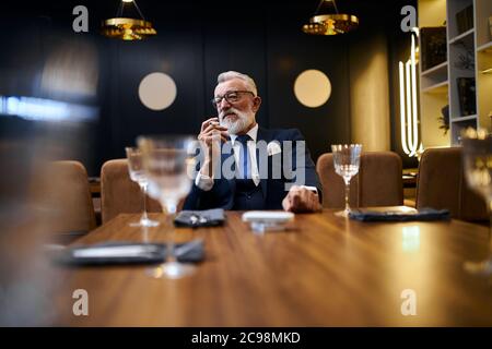
<instances>
[{"instance_id":1,"label":"large blurred wine glass in the foreground, left of the man","mask_svg":"<svg viewBox=\"0 0 492 349\"><path fill-rule=\"evenodd\" d=\"M140 136L137 140L143 155L149 179L149 195L159 200L167 217L166 261L150 270L155 278L180 278L195 272L192 264L177 261L174 249L174 216L177 205L191 189L196 140L192 136Z\"/></svg>"}]
</instances>

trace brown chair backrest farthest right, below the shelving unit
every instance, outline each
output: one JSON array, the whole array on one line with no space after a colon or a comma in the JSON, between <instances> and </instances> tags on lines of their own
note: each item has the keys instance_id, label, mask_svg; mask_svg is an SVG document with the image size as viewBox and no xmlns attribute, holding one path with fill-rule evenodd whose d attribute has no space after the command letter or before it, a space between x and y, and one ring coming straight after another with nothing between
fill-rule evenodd
<instances>
[{"instance_id":1,"label":"brown chair backrest farthest right, below the shelving unit","mask_svg":"<svg viewBox=\"0 0 492 349\"><path fill-rule=\"evenodd\" d=\"M460 147L429 148L422 154L417 179L417 208L449 209L453 218L488 220L485 201L464 178Z\"/></svg>"}]
</instances>

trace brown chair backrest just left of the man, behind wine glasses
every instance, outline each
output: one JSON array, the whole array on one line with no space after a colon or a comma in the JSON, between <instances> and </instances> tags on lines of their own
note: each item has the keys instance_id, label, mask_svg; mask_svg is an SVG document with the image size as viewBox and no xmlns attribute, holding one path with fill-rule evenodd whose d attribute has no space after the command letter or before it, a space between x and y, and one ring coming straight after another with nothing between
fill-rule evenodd
<instances>
[{"instance_id":1,"label":"brown chair backrest just left of the man, behind wine glasses","mask_svg":"<svg viewBox=\"0 0 492 349\"><path fill-rule=\"evenodd\" d=\"M162 212L155 200L145 197L148 212ZM106 161L101 169L101 214L103 224L121 213L142 213L143 195L130 179L128 160Z\"/></svg>"}]
</instances>

